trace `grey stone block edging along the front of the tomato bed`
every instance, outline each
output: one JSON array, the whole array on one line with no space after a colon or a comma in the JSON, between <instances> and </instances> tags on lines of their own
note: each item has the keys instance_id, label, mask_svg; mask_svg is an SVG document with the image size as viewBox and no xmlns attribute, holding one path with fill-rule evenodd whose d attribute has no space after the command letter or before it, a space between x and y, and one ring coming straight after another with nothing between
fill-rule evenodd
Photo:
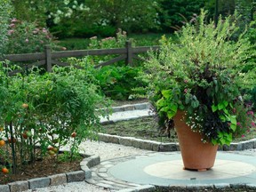
<instances>
[{"instance_id":1,"label":"grey stone block edging along the front of the tomato bed","mask_svg":"<svg viewBox=\"0 0 256 192\"><path fill-rule=\"evenodd\" d=\"M87 156L81 154L82 156ZM69 182L84 181L92 178L92 171L90 168L100 164L100 156L89 156L85 157L80 163L81 171L67 172L51 175L48 177L20 180L8 183L6 185L0 185L1 192L20 192L28 189L35 188L47 188L50 186L62 185Z\"/></svg>"}]
</instances>

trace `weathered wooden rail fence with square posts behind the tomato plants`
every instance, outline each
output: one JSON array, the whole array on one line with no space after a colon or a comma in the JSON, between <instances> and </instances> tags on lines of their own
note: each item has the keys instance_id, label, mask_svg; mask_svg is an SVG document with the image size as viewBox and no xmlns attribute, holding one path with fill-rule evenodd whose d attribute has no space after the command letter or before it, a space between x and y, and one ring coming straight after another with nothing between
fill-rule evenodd
<instances>
[{"instance_id":1,"label":"weathered wooden rail fence with square posts behind the tomato plants","mask_svg":"<svg viewBox=\"0 0 256 192\"><path fill-rule=\"evenodd\" d=\"M141 60L138 56L139 53L148 52L149 50L156 51L159 46L140 46L132 47L132 42L126 41L124 48L115 49L97 49L97 50L76 50L76 51L63 51L63 52L52 52L50 45L45 45L44 52L39 53L26 53L26 54L8 54L5 55L4 60L10 60L13 62L33 62L26 65L26 68L32 68L33 66L44 66L46 71L52 72L52 66L68 66L68 63L61 62L58 59L68 58L68 57L84 57L89 55L119 55L112 60L104 61L95 66L95 68L100 68L103 66L110 65L119 60L125 60L125 63L132 65L133 59ZM12 71L12 74L20 72L19 70ZM12 75L11 74L11 75Z\"/></svg>"}]
</instances>

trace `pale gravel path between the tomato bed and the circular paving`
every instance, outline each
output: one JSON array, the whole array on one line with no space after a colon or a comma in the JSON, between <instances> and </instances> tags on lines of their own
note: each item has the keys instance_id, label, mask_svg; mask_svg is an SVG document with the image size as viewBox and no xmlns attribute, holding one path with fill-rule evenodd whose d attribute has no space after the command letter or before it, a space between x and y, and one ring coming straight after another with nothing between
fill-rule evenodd
<instances>
[{"instance_id":1,"label":"pale gravel path between the tomato bed and the circular paving","mask_svg":"<svg viewBox=\"0 0 256 192\"><path fill-rule=\"evenodd\" d=\"M151 153L148 150L142 150L140 148L126 147L122 145L117 145L113 143L104 143L97 141L85 141L81 146L81 151L89 155L99 155L100 161L105 161L108 159L122 157L122 156L134 156L142 155L146 153ZM49 187L49 188L38 188L29 189L26 192L106 192L113 191L106 188L99 188L97 186L88 184L86 182L71 182L65 185Z\"/></svg>"}]
</instances>

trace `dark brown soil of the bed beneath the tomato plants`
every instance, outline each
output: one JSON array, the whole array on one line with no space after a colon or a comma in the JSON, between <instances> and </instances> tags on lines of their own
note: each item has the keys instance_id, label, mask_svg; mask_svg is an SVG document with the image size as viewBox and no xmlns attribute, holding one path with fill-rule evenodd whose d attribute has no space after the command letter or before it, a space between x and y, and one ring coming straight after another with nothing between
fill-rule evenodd
<instances>
[{"instance_id":1,"label":"dark brown soil of the bed beneath the tomato plants","mask_svg":"<svg viewBox=\"0 0 256 192\"><path fill-rule=\"evenodd\" d=\"M60 155L61 156L61 155ZM10 183L17 180L28 180L40 177L46 177L53 174L75 172L81 170L80 162L83 160L82 156L72 162L58 162L56 163L54 156L45 156L38 160L35 164L25 164L17 170L16 174L10 172L8 174L0 173L0 185Z\"/></svg>"}]
</instances>

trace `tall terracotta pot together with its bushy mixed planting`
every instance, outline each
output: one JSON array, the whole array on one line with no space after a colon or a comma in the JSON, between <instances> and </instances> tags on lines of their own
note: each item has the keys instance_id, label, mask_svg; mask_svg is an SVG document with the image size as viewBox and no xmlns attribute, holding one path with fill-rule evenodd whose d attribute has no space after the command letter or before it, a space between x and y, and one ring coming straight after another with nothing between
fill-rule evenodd
<instances>
[{"instance_id":1,"label":"tall terracotta pot together with its bushy mixed planting","mask_svg":"<svg viewBox=\"0 0 256 192\"><path fill-rule=\"evenodd\" d=\"M255 66L247 61L255 50L245 32L232 40L236 21L220 18L215 27L206 23L205 14L176 33L178 43L163 37L159 52L149 52L145 64L160 122L174 121L184 168L196 170L211 168L218 146L229 145L253 125L241 90L253 87L256 74L255 67L243 72L247 65Z\"/></svg>"}]
</instances>

